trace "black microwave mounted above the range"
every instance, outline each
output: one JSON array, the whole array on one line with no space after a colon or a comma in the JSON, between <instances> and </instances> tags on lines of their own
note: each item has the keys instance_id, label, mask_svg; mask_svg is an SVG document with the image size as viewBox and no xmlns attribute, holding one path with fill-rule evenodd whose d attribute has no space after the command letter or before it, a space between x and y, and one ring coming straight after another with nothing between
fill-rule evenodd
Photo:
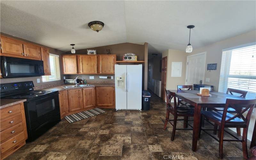
<instances>
[{"instance_id":1,"label":"black microwave mounted above the range","mask_svg":"<svg viewBox=\"0 0 256 160\"><path fill-rule=\"evenodd\" d=\"M44 76L44 62L24 58L0 56L3 78Z\"/></svg>"}]
</instances>

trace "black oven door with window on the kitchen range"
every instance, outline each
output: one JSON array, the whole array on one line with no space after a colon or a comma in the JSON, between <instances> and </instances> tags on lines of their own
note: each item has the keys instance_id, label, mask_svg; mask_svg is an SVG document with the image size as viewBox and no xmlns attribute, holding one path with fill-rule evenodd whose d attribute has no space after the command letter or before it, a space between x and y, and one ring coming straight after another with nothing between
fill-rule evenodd
<instances>
[{"instance_id":1,"label":"black oven door with window on the kitchen range","mask_svg":"<svg viewBox=\"0 0 256 160\"><path fill-rule=\"evenodd\" d=\"M36 100L27 101L25 107L28 130L38 128L52 122L60 121L60 105L58 92L47 94Z\"/></svg>"}]
</instances>

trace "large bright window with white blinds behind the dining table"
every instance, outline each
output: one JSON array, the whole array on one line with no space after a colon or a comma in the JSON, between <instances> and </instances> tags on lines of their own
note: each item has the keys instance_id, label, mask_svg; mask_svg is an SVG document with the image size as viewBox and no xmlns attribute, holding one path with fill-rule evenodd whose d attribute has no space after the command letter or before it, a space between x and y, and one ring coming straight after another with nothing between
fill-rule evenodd
<instances>
[{"instance_id":1,"label":"large bright window with white blinds behind the dining table","mask_svg":"<svg viewBox=\"0 0 256 160\"><path fill-rule=\"evenodd\" d=\"M246 97L256 97L256 45L223 50L219 92L227 88L248 91Z\"/></svg>"}]
</instances>

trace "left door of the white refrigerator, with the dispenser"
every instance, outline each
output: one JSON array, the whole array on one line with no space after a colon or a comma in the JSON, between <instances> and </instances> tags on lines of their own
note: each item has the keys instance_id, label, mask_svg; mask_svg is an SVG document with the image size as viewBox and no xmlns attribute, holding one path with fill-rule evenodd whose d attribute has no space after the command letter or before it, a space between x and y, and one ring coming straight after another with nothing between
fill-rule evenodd
<instances>
[{"instance_id":1,"label":"left door of the white refrigerator, with the dispenser","mask_svg":"<svg viewBox=\"0 0 256 160\"><path fill-rule=\"evenodd\" d=\"M117 85L117 77L124 78L124 87ZM126 65L115 65L115 79L116 109L127 109Z\"/></svg>"}]
</instances>

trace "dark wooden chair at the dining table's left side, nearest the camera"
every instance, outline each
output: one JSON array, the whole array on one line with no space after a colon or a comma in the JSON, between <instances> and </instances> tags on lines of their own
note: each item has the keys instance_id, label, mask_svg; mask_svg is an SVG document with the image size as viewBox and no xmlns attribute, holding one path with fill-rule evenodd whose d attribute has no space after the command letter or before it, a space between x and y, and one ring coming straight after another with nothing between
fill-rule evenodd
<instances>
[{"instance_id":1,"label":"dark wooden chair at the dining table's left side, nearest the camera","mask_svg":"<svg viewBox=\"0 0 256 160\"><path fill-rule=\"evenodd\" d=\"M176 128L176 124L177 124L177 121L182 121L182 120L184 121L184 119L178 119L178 117L194 116L194 109L187 106L187 105L182 105L182 104L177 105L175 93L167 91L167 90L165 90L165 92L166 92L166 117L165 117L165 123L164 123L164 130L166 129L167 122L169 122L173 126L173 128L172 128L172 137L171 137L171 140L173 141L176 130L193 130L193 126L188 124L188 121L193 121L193 120L186 121L186 123L192 129ZM173 105L171 103L172 98L174 100ZM169 119L170 118L170 113L174 116L173 119ZM172 123L172 121L173 121L173 123Z\"/></svg>"}]
</instances>

